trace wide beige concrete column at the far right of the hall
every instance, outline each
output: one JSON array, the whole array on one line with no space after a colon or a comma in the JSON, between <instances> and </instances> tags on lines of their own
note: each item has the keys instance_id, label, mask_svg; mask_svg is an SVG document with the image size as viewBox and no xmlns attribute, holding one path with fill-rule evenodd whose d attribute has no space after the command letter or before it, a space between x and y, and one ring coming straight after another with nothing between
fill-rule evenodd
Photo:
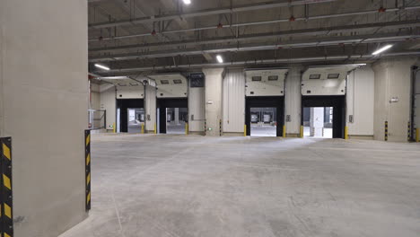
<instances>
[{"instance_id":1,"label":"wide beige concrete column at the far right of the hall","mask_svg":"<svg viewBox=\"0 0 420 237\"><path fill-rule=\"evenodd\" d=\"M407 142L411 111L411 66L416 57L381 59L375 72L374 138L384 140L385 121L389 124L388 141Z\"/></svg>"}]
</instances>

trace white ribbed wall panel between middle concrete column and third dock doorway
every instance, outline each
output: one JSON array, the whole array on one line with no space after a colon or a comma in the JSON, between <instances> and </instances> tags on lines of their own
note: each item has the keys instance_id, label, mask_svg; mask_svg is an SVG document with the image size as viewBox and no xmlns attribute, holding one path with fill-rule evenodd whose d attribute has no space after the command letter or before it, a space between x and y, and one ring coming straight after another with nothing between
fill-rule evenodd
<instances>
[{"instance_id":1,"label":"white ribbed wall panel between middle concrete column and third dock doorway","mask_svg":"<svg viewBox=\"0 0 420 237\"><path fill-rule=\"evenodd\" d=\"M245 75L229 70L223 79L223 132L241 133L245 125Z\"/></svg>"}]
</instances>

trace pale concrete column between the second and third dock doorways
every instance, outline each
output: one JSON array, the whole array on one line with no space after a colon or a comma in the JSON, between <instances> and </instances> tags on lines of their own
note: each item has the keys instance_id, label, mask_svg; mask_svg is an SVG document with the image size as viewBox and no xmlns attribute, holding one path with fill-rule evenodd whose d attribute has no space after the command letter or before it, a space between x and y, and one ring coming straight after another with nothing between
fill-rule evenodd
<instances>
[{"instance_id":1,"label":"pale concrete column between the second and third dock doorways","mask_svg":"<svg viewBox=\"0 0 420 237\"><path fill-rule=\"evenodd\" d=\"M219 136L220 119L222 119L223 68L206 68L206 123L207 136Z\"/></svg>"}]
</instances>

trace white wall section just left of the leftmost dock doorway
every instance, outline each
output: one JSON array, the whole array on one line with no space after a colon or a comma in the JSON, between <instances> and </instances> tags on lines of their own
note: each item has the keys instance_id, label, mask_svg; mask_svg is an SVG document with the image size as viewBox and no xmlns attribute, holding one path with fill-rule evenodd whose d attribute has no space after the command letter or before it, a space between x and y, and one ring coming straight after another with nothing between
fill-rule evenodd
<instances>
[{"instance_id":1,"label":"white wall section just left of the leftmost dock doorway","mask_svg":"<svg viewBox=\"0 0 420 237\"><path fill-rule=\"evenodd\" d=\"M107 110L107 129L113 130L112 126L116 123L117 101L115 98L115 87L103 84L102 87L107 86L107 90L101 91L101 110Z\"/></svg>"}]
</instances>

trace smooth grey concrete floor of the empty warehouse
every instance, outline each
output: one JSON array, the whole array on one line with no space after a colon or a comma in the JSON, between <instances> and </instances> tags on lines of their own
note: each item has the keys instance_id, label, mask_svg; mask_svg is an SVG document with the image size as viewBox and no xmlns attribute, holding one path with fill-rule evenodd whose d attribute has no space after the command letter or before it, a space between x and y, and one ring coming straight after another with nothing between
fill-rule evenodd
<instances>
[{"instance_id":1,"label":"smooth grey concrete floor of the empty warehouse","mask_svg":"<svg viewBox=\"0 0 420 237\"><path fill-rule=\"evenodd\" d=\"M92 211L61 237L420 233L420 145L92 137Z\"/></svg>"}]
</instances>

